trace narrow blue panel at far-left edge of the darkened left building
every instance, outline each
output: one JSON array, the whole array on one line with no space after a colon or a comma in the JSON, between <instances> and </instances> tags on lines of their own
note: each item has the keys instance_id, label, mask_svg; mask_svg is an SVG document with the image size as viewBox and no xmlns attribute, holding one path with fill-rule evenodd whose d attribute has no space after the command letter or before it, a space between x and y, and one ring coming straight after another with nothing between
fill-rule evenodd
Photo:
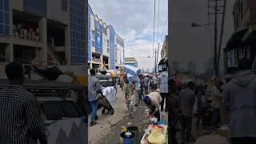
<instances>
[{"instance_id":1,"label":"narrow blue panel at far-left edge of the darkened left building","mask_svg":"<svg viewBox=\"0 0 256 144\"><path fill-rule=\"evenodd\" d=\"M0 0L0 34L10 34L9 0Z\"/></svg>"}]
</instances>

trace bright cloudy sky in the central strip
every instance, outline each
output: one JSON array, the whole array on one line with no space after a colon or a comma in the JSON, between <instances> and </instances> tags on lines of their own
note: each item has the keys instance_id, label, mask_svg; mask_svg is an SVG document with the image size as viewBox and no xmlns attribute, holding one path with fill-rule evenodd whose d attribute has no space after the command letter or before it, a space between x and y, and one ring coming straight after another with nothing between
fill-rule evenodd
<instances>
[{"instance_id":1,"label":"bright cloudy sky in the central strip","mask_svg":"<svg viewBox=\"0 0 256 144\"><path fill-rule=\"evenodd\" d=\"M158 1L160 2L159 17ZM126 38L125 57L137 58L139 68L152 70L154 67L154 0L88 0L88 2L98 18L114 26L115 32L122 38ZM154 47L158 46L158 42L162 46L167 32L167 2L168 0L156 0Z\"/></svg>"}]
</instances>

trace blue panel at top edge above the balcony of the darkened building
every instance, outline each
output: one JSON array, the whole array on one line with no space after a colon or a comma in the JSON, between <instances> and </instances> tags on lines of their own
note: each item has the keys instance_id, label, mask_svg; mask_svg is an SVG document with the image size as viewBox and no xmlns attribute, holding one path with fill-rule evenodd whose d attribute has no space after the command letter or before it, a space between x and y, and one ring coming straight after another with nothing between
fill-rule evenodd
<instances>
[{"instance_id":1,"label":"blue panel at top edge above the balcony of the darkened building","mask_svg":"<svg viewBox=\"0 0 256 144\"><path fill-rule=\"evenodd\" d=\"M24 0L24 11L46 17L46 0Z\"/></svg>"}]
</instances>

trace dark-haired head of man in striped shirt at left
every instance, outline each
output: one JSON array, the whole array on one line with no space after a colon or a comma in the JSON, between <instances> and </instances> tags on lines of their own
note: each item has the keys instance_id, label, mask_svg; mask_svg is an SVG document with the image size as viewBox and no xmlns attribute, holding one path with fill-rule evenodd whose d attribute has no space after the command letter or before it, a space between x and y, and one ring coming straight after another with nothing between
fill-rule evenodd
<instances>
[{"instance_id":1,"label":"dark-haired head of man in striped shirt at left","mask_svg":"<svg viewBox=\"0 0 256 144\"><path fill-rule=\"evenodd\" d=\"M20 62L10 62L6 66L6 76L10 83L22 84L24 80L25 68Z\"/></svg>"}]
</instances>

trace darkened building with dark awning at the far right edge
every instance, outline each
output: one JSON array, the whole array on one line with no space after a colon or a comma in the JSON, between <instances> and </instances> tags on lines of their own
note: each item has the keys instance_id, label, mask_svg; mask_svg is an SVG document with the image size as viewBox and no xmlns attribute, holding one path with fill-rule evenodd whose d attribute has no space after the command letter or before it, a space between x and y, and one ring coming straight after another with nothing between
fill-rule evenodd
<instances>
[{"instance_id":1,"label":"darkened building with dark awning at the far right edge","mask_svg":"<svg viewBox=\"0 0 256 144\"><path fill-rule=\"evenodd\" d=\"M234 34L224 49L225 74L238 70L241 58L254 60L256 55L256 1L234 2Z\"/></svg>"}]
</instances>

